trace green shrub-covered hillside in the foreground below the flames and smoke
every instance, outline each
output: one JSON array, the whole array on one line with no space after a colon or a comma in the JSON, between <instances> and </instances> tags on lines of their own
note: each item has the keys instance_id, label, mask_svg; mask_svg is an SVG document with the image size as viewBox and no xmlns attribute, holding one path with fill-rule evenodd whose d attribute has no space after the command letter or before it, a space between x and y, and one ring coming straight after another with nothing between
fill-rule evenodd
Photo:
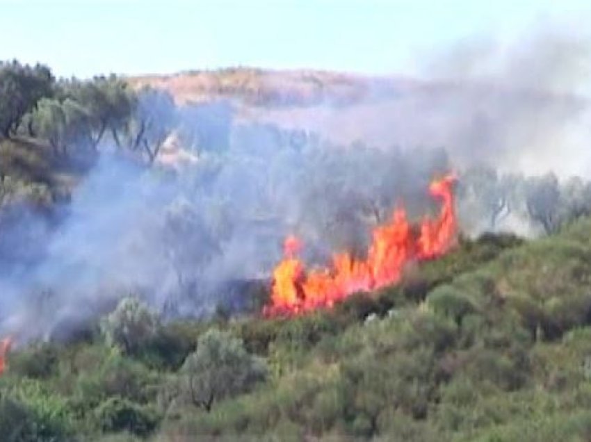
<instances>
[{"instance_id":1,"label":"green shrub-covered hillside in the foreground below the flames and smoke","mask_svg":"<svg viewBox=\"0 0 591 442\"><path fill-rule=\"evenodd\" d=\"M160 325L128 299L68 344L10 353L0 431L48 441L587 440L590 231L583 219L528 243L462 240L400 286L300 318Z\"/></svg>"}]
</instances>

